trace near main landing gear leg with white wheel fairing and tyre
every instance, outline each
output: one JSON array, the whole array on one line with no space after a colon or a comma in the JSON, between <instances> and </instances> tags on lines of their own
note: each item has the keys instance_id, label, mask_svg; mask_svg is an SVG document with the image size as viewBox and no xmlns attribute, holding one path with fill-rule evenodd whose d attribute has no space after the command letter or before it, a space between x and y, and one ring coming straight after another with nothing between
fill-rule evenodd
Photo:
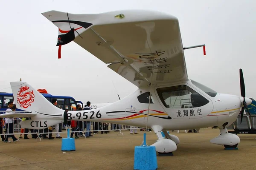
<instances>
[{"instance_id":1,"label":"near main landing gear leg with white wheel fairing and tyre","mask_svg":"<svg viewBox=\"0 0 256 170\"><path fill-rule=\"evenodd\" d=\"M156 147L156 151L159 154L158 156L173 156L172 152L177 150L177 145L171 139L165 139L162 136L161 131L163 130L163 127L160 125L153 125L151 129L154 130L158 138L157 142L151 145Z\"/></svg>"}]
</instances>

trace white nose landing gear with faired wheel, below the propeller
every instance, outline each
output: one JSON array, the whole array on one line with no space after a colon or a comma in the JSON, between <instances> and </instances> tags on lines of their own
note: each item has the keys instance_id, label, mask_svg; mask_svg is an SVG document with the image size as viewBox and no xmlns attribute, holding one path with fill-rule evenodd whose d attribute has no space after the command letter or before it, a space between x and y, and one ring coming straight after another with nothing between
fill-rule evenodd
<instances>
[{"instance_id":1,"label":"white nose landing gear with faired wheel, below the propeller","mask_svg":"<svg viewBox=\"0 0 256 170\"><path fill-rule=\"evenodd\" d=\"M221 134L210 140L211 143L224 145L225 148L236 148L240 143L240 138L232 133L228 133L226 126L220 128Z\"/></svg>"}]
</instances>

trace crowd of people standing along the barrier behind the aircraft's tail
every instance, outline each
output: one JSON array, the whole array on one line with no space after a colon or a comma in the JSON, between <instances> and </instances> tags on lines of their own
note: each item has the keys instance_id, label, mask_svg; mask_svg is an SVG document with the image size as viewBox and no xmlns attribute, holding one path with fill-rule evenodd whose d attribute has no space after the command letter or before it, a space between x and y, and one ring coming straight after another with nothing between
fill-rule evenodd
<instances>
[{"instance_id":1,"label":"crowd of people standing along the barrier behind the aircraft's tail","mask_svg":"<svg viewBox=\"0 0 256 170\"><path fill-rule=\"evenodd\" d=\"M52 99L52 104L57 106L57 100L56 99ZM82 111L82 110L90 110L92 109L90 107L90 102L88 101L86 103L86 105L84 106L84 108L81 108L81 105L77 105L76 110L77 111ZM6 109L6 113L10 113L16 110L16 105L13 104L12 101L8 102L8 108ZM73 108L70 106L70 110L73 110ZM22 121L28 120L29 118L22 118ZM0 134L3 134L3 127L5 126L5 132L6 135L1 135L2 141L4 143L10 143L11 141L9 140L10 138L12 138L13 142L17 142L19 141L19 139L22 139L22 134L20 134L19 138L17 139L14 135L14 118L0 118ZM91 131L91 124L93 125L93 131ZM118 125L118 124L109 124L109 123L103 123L103 122L89 122L89 121L75 121L72 120L70 122L68 122L68 125L72 128L72 132L70 137L73 137L73 135L75 134L75 138L79 138L79 137L91 137L93 136L93 134L98 134L99 131L101 131L101 134L103 133L110 133L109 131L109 125L111 125L110 129L114 130L114 131L119 131L122 128L122 125ZM58 139L61 139L62 137L60 136L61 130L62 130L62 123L60 124L56 124L54 126L51 127L47 127L43 130L39 130L39 132L41 133L41 135L39 137L42 137L43 139L54 139L55 137L52 136L52 132L53 132L53 127L55 128L55 137ZM134 127L134 126L126 126L123 125L123 128L125 128L127 131L130 129L130 134L138 134L137 133L137 129L138 127ZM83 134L82 131L84 131L84 129L86 129L86 132ZM20 133L32 133L32 138L37 139L38 138L38 130L34 130L34 129L20 129ZM140 129L141 131L143 131L144 129ZM78 132L79 131L79 132ZM29 139L27 134L24 134L24 139Z\"/></svg>"}]
</instances>

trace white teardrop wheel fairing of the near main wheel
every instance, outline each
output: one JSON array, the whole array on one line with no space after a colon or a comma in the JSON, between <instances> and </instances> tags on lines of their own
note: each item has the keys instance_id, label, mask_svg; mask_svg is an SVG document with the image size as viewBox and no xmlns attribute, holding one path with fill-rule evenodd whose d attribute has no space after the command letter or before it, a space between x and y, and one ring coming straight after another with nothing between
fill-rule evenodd
<instances>
[{"instance_id":1,"label":"white teardrop wheel fairing of the near main wheel","mask_svg":"<svg viewBox=\"0 0 256 170\"><path fill-rule=\"evenodd\" d=\"M160 153L169 153L177 150L177 145L170 139L160 139L156 143L151 144L156 147L156 151Z\"/></svg>"}]
</instances>

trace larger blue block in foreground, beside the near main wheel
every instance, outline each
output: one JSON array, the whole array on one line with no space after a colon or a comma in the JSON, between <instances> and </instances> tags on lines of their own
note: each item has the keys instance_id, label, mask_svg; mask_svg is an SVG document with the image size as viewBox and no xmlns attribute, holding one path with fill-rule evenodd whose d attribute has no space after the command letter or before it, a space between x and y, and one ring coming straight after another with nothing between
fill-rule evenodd
<instances>
[{"instance_id":1,"label":"larger blue block in foreground, beside the near main wheel","mask_svg":"<svg viewBox=\"0 0 256 170\"><path fill-rule=\"evenodd\" d=\"M155 146L135 147L134 170L157 170L157 154Z\"/></svg>"}]
</instances>

